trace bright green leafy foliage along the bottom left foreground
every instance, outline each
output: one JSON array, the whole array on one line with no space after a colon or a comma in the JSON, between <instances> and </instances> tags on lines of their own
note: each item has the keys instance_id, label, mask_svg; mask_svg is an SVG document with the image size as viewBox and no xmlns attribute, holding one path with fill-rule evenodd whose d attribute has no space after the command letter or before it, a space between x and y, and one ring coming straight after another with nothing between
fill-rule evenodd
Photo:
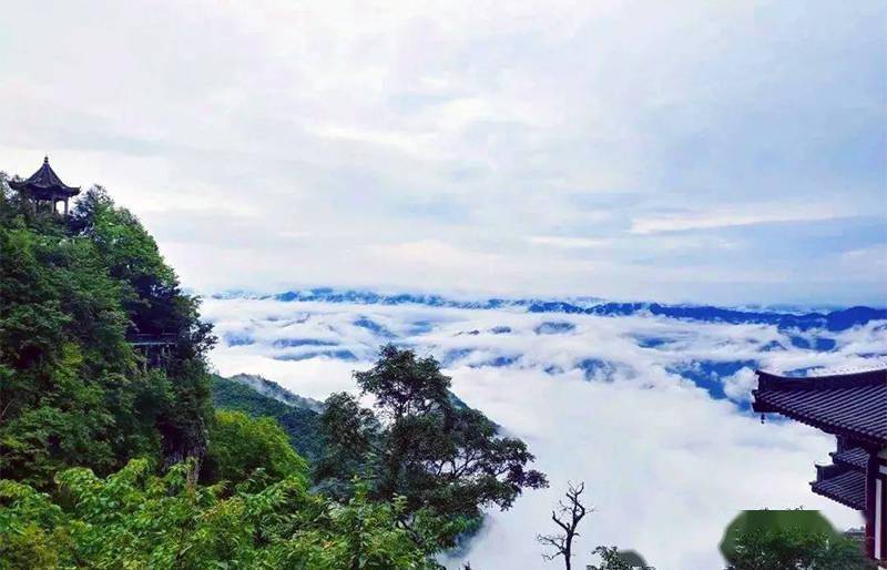
<instances>
[{"instance_id":1,"label":"bright green leafy foliage along the bottom left foreground","mask_svg":"<svg viewBox=\"0 0 887 570\"><path fill-rule=\"evenodd\" d=\"M363 486L335 503L299 477L269 486L188 482L133 460L105 479L74 468L59 500L0 481L0 569L421 569L435 567L396 525L402 502L371 503Z\"/></svg>"}]
</instances>

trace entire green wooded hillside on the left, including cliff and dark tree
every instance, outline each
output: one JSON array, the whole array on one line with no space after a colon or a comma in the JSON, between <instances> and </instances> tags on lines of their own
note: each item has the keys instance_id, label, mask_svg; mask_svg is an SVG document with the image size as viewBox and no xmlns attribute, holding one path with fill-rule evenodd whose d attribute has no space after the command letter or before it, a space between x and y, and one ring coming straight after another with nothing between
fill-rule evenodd
<instances>
[{"instance_id":1,"label":"entire green wooded hillside on the left, including cliff and dark tree","mask_svg":"<svg viewBox=\"0 0 887 570\"><path fill-rule=\"evenodd\" d=\"M546 485L410 350L357 374L375 410L213 377L198 299L132 213L93 187L34 214L6 181L0 569L438 568Z\"/></svg>"}]
</instances>

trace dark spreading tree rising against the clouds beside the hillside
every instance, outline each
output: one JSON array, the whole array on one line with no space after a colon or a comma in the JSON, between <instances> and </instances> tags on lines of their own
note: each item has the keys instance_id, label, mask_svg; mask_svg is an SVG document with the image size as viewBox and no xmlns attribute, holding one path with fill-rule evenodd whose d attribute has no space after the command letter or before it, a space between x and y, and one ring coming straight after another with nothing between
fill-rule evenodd
<instances>
[{"instance_id":1,"label":"dark spreading tree rising against the clouds beside the hillside","mask_svg":"<svg viewBox=\"0 0 887 570\"><path fill-rule=\"evenodd\" d=\"M547 486L527 467L533 456L521 440L498 436L480 411L453 405L450 379L432 357L388 345L355 379L378 415L348 394L327 399L316 476L328 492L340 493L361 474L371 497L404 497L407 513L471 521L483 507L508 509L522 489Z\"/></svg>"}]
</instances>

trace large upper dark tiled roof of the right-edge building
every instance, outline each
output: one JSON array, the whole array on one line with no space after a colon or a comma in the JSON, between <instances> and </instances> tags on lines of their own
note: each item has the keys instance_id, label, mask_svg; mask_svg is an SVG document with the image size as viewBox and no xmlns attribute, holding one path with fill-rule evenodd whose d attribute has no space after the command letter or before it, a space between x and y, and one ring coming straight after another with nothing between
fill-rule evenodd
<instances>
[{"instance_id":1,"label":"large upper dark tiled roof of the right-edge building","mask_svg":"<svg viewBox=\"0 0 887 570\"><path fill-rule=\"evenodd\" d=\"M812 378L758 371L752 407L824 431L887 444L887 369Z\"/></svg>"}]
</instances>

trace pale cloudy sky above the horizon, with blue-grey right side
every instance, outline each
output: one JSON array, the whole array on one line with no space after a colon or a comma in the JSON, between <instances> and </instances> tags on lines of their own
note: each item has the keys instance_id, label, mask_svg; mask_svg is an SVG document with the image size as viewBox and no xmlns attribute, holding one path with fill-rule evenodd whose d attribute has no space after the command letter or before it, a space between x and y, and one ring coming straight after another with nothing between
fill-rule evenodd
<instances>
[{"instance_id":1,"label":"pale cloudy sky above the horizon, with blue-grey right side","mask_svg":"<svg viewBox=\"0 0 887 570\"><path fill-rule=\"evenodd\" d=\"M198 292L887 305L884 2L3 2L0 170Z\"/></svg>"}]
</instances>

